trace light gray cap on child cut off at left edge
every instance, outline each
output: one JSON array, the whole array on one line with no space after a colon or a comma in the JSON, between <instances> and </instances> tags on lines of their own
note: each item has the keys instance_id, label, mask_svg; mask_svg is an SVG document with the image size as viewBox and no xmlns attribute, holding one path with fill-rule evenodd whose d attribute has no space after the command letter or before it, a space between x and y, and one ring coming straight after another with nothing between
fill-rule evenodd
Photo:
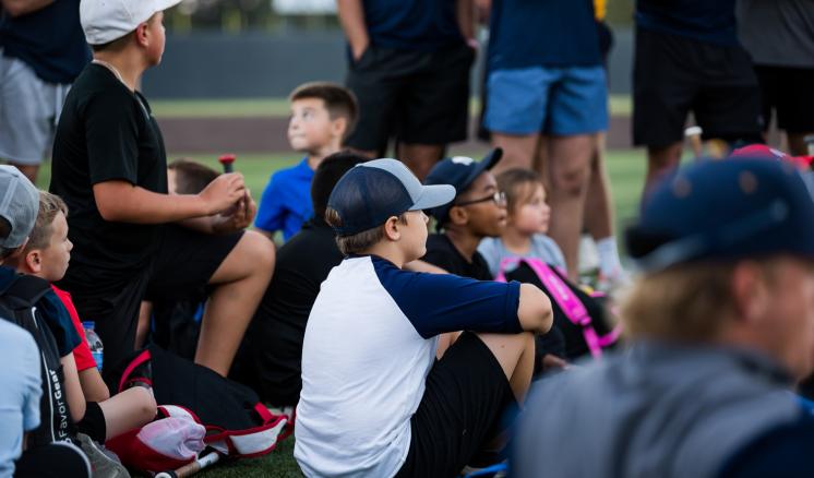
<instances>
[{"instance_id":1,"label":"light gray cap on child cut off at left edge","mask_svg":"<svg viewBox=\"0 0 814 478\"><path fill-rule=\"evenodd\" d=\"M0 239L0 247L14 249L23 246L34 228L39 211L39 191L20 169L0 165L0 217L9 222L9 237Z\"/></svg>"}]
</instances>

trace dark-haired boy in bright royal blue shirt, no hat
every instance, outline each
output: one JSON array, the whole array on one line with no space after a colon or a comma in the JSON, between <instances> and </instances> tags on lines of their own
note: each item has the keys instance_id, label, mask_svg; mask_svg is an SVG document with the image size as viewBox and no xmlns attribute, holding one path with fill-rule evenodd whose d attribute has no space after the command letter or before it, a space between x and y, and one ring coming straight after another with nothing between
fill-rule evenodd
<instances>
[{"instance_id":1,"label":"dark-haired boy in bright royal blue shirt, no hat","mask_svg":"<svg viewBox=\"0 0 814 478\"><path fill-rule=\"evenodd\" d=\"M254 226L270 238L282 230L283 239L297 234L313 216L311 179L326 156L338 153L356 123L354 94L333 83L306 83L290 95L288 142L306 157L272 175L260 200Z\"/></svg>"}]
</instances>

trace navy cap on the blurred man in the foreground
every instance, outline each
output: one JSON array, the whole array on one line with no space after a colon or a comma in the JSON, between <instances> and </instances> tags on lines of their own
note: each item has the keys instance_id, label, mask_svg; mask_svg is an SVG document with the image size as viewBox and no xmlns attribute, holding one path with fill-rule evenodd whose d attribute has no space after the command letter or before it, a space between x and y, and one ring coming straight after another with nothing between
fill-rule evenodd
<instances>
[{"instance_id":1,"label":"navy cap on the blurred man in the foreground","mask_svg":"<svg viewBox=\"0 0 814 478\"><path fill-rule=\"evenodd\" d=\"M812 191L789 163L702 162L654 190L626 242L644 272L775 254L814 259Z\"/></svg>"}]
</instances>

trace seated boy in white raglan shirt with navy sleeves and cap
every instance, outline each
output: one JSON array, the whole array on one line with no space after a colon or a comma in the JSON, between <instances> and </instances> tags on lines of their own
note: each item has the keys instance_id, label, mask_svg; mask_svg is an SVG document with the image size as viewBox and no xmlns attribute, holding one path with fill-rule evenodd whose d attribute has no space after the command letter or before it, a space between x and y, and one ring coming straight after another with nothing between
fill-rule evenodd
<instances>
[{"instance_id":1,"label":"seated boy in white raglan shirt with navy sleeves and cap","mask_svg":"<svg viewBox=\"0 0 814 478\"><path fill-rule=\"evenodd\" d=\"M531 380L528 332L551 327L535 286L405 271L427 251L424 208L455 196L396 159L350 169L325 212L345 260L311 309L295 458L306 476L455 476ZM467 331L435 360L439 336ZM471 332L468 332L471 331Z\"/></svg>"}]
</instances>

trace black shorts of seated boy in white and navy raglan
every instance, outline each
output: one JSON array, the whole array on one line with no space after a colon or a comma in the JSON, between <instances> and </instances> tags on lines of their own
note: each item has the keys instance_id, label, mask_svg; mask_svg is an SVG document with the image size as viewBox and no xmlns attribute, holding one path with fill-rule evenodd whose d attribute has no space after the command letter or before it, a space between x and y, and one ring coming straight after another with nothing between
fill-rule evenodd
<instances>
[{"instance_id":1,"label":"black shorts of seated boy in white and navy raglan","mask_svg":"<svg viewBox=\"0 0 814 478\"><path fill-rule=\"evenodd\" d=\"M498 359L465 332L436 361L410 420L412 438L398 477L457 476L508 426L517 403Z\"/></svg>"}]
</instances>

